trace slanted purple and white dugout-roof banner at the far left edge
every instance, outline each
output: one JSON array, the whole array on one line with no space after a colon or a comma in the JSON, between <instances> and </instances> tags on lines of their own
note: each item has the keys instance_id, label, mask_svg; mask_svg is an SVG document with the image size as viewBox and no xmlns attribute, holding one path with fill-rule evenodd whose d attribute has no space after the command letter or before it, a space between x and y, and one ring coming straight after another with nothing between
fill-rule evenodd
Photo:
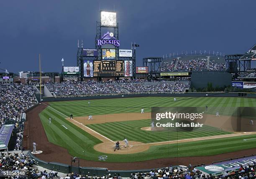
<instances>
[{"instance_id":1,"label":"slanted purple and white dugout-roof banner at the far left edge","mask_svg":"<svg viewBox=\"0 0 256 179\"><path fill-rule=\"evenodd\" d=\"M0 129L0 150L6 149L13 132L14 124L3 125Z\"/></svg>"}]
</instances>

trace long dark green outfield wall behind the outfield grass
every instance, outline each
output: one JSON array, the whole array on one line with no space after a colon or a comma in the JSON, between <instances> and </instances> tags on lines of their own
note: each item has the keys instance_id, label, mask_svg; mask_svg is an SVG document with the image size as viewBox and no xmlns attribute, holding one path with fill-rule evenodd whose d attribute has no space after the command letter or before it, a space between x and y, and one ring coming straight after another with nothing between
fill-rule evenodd
<instances>
[{"instance_id":1,"label":"long dark green outfield wall behind the outfield grass","mask_svg":"<svg viewBox=\"0 0 256 179\"><path fill-rule=\"evenodd\" d=\"M123 94L99 94L99 95L81 95L81 96L57 96L43 97L43 101L72 101L104 98L132 98L148 96L175 96L175 97L249 97L256 98L256 93L123 93ZM40 101L40 95L36 95Z\"/></svg>"}]
</instances>

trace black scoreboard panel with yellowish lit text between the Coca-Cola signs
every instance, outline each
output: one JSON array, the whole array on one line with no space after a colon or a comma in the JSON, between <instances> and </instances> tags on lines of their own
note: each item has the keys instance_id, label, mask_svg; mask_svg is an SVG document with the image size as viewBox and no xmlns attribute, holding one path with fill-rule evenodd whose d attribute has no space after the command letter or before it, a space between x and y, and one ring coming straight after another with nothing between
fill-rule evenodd
<instances>
[{"instance_id":1,"label":"black scoreboard panel with yellowish lit text between the Coca-Cola signs","mask_svg":"<svg viewBox=\"0 0 256 179\"><path fill-rule=\"evenodd\" d=\"M93 76L124 76L124 61L93 61Z\"/></svg>"}]
</instances>

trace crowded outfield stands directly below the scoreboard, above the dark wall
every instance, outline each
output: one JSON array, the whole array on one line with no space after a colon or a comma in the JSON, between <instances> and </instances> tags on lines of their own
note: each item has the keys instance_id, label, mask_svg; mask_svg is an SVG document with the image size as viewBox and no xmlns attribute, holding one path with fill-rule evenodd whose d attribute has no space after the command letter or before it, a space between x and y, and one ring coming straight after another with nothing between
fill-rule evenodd
<instances>
[{"instance_id":1,"label":"crowded outfield stands directly below the scoreboard, above the dark wall","mask_svg":"<svg viewBox=\"0 0 256 179\"><path fill-rule=\"evenodd\" d=\"M179 86L180 84L180 86ZM187 83L174 83L169 81L145 82L145 81L119 81L118 83L56 83L46 84L49 91L56 96L91 95L91 94L113 94L113 93L170 93L184 92L184 88L189 87Z\"/></svg>"}]
</instances>

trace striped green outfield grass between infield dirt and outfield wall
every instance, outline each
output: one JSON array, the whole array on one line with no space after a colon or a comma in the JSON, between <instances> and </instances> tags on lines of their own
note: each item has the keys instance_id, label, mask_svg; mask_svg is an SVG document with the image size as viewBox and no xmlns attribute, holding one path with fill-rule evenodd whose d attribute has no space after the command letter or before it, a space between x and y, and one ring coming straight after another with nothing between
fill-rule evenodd
<instances>
[{"instance_id":1,"label":"striped green outfield grass between infield dirt and outfield wall","mask_svg":"<svg viewBox=\"0 0 256 179\"><path fill-rule=\"evenodd\" d=\"M236 107L256 107L255 98L238 97L138 97L138 98L111 98L79 101L50 102L51 107L61 113L70 116L103 115L110 113L139 113L141 108L144 112L150 112L151 107L175 107L175 106L208 106L207 113L220 115L232 115Z\"/></svg>"}]
</instances>

